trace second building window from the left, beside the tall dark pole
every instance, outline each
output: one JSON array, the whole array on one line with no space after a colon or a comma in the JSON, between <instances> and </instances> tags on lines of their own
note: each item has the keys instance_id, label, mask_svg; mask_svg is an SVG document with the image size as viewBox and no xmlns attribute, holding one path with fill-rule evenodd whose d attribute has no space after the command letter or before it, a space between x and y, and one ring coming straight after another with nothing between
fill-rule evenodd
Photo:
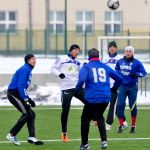
<instances>
[{"instance_id":1,"label":"second building window from the left, beside the tall dark pole","mask_svg":"<svg viewBox=\"0 0 150 150\"><path fill-rule=\"evenodd\" d=\"M64 33L64 12L63 11L50 12L48 29L51 34Z\"/></svg>"}]
</instances>

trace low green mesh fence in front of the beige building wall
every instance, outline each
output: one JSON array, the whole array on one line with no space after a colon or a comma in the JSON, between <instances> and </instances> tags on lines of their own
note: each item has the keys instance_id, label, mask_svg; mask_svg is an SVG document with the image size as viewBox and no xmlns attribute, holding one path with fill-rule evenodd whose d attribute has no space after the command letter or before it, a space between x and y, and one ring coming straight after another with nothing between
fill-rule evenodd
<instances>
[{"instance_id":1,"label":"low green mesh fence in front of the beige building wall","mask_svg":"<svg viewBox=\"0 0 150 150\"><path fill-rule=\"evenodd\" d=\"M97 38L103 35L105 35L104 31L94 31L91 35L86 32L78 34L75 31L68 31L67 41L65 41L65 34L51 34L51 32L46 29L33 31L17 30L15 33L7 31L6 33L0 34L0 54L20 55L32 52L45 56L53 55L57 57L57 55L66 54L70 45L77 43L81 47L81 54L86 56L88 49L93 47L98 48ZM138 35L149 36L150 33L133 33L130 31L125 31L123 33L123 36ZM132 41L126 40L124 43L127 45L132 43ZM141 43L139 43L139 41L134 41L134 44L140 47L140 53L145 51L146 53L150 53L150 40L142 41ZM142 47L141 45L144 46ZM65 47L67 47L67 49L65 49ZM119 49L122 49L121 44Z\"/></svg>"}]
</instances>

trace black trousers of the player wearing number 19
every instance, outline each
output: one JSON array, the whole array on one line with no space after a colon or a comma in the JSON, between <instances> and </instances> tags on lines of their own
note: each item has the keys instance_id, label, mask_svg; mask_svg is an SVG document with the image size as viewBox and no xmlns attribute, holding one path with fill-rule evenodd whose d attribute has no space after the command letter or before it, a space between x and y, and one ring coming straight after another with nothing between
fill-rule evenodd
<instances>
[{"instance_id":1,"label":"black trousers of the player wearing number 19","mask_svg":"<svg viewBox=\"0 0 150 150\"><path fill-rule=\"evenodd\" d=\"M103 117L107 105L108 103L85 104L81 116L81 139L83 145L88 143L90 121L93 119L93 116L98 123L101 141L107 141L105 119Z\"/></svg>"}]
</instances>

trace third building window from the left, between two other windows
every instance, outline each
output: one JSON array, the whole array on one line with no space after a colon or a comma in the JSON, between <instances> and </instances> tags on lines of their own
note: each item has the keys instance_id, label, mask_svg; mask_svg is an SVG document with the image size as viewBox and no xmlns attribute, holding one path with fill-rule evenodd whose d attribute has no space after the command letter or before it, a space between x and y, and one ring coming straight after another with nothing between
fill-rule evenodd
<instances>
[{"instance_id":1,"label":"third building window from the left, between two other windows","mask_svg":"<svg viewBox=\"0 0 150 150\"><path fill-rule=\"evenodd\" d=\"M94 13L91 11L76 12L76 32L79 34L93 34Z\"/></svg>"}]
</instances>

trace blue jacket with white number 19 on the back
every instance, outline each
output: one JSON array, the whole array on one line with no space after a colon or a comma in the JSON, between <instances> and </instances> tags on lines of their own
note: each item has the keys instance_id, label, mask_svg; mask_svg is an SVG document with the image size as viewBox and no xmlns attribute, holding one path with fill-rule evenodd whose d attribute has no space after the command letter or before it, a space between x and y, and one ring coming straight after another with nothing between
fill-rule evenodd
<instances>
[{"instance_id":1,"label":"blue jacket with white number 19 on the back","mask_svg":"<svg viewBox=\"0 0 150 150\"><path fill-rule=\"evenodd\" d=\"M85 100L88 103L105 103L110 101L110 77L116 80L117 88L122 81L121 76L109 66L98 60L90 60L79 72L76 90L80 91L85 83Z\"/></svg>"}]
</instances>

